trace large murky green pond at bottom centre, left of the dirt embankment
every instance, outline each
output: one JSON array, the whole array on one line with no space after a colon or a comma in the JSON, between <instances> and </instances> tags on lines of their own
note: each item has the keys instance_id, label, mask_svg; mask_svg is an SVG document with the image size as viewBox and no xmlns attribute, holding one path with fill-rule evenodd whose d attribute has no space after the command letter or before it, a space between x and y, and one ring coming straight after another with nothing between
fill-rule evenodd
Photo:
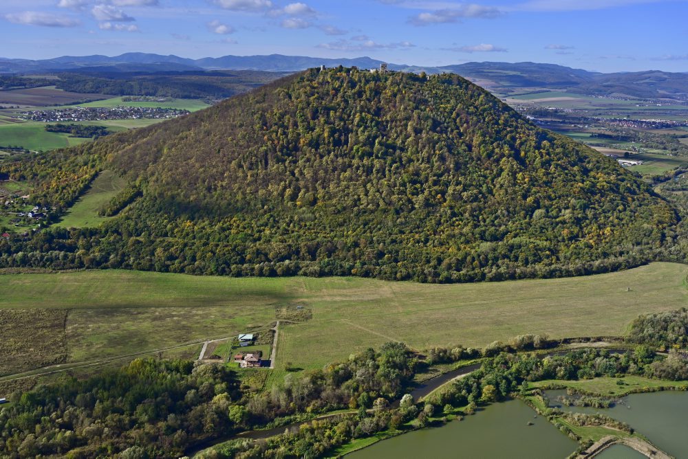
<instances>
[{"instance_id":1,"label":"large murky green pond at bottom centre, left of the dirt embankment","mask_svg":"<svg viewBox=\"0 0 688 459\"><path fill-rule=\"evenodd\" d=\"M577 447L545 418L535 417L528 405L512 400L489 405L463 421L383 440L346 457L563 459Z\"/></svg>"}]
</instances>

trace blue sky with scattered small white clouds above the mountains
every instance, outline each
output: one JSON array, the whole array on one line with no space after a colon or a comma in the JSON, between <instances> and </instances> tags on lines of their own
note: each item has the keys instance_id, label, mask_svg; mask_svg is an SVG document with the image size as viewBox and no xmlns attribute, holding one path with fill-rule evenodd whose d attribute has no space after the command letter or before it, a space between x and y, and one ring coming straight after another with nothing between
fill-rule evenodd
<instances>
[{"instance_id":1,"label":"blue sky with scattered small white clouds above the mountains","mask_svg":"<svg viewBox=\"0 0 688 459\"><path fill-rule=\"evenodd\" d=\"M0 56L370 56L688 71L688 0L0 0Z\"/></svg>"}]
</instances>

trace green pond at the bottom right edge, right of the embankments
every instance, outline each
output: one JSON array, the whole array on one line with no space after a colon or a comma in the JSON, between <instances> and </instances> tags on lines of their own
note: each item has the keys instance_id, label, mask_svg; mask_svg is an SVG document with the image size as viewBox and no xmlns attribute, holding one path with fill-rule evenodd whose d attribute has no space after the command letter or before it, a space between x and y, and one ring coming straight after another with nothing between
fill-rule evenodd
<instances>
[{"instance_id":1,"label":"green pond at the bottom right edge, right of the embankments","mask_svg":"<svg viewBox=\"0 0 688 459\"><path fill-rule=\"evenodd\" d=\"M556 396L561 394L560 391L546 393L550 405L555 405ZM622 401L608 409L562 407L562 410L606 414L627 423L670 456L688 459L688 392L630 394Z\"/></svg>"}]
</instances>

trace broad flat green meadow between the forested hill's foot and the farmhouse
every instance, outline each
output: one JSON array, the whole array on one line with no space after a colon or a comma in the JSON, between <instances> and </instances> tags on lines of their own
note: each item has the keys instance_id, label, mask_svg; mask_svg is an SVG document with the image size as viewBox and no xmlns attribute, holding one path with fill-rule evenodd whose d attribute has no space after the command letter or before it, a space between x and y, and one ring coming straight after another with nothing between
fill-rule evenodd
<instances>
[{"instance_id":1,"label":"broad flat green meadow between the forested hill's foot and the farmhouse","mask_svg":"<svg viewBox=\"0 0 688 459\"><path fill-rule=\"evenodd\" d=\"M674 263L581 278L454 285L114 270L8 274L0 276L0 309L69 310L54 339L64 336L67 361L83 361L265 329L278 309L307 306L312 319L280 326L271 376L279 379L287 362L319 368L390 340L424 349L485 346L522 333L621 335L640 313L685 305L687 274L688 266ZM23 339L33 346L30 335ZM8 366L19 365L4 340L0 354L9 356ZM45 360L33 357L36 366Z\"/></svg>"}]
</instances>

